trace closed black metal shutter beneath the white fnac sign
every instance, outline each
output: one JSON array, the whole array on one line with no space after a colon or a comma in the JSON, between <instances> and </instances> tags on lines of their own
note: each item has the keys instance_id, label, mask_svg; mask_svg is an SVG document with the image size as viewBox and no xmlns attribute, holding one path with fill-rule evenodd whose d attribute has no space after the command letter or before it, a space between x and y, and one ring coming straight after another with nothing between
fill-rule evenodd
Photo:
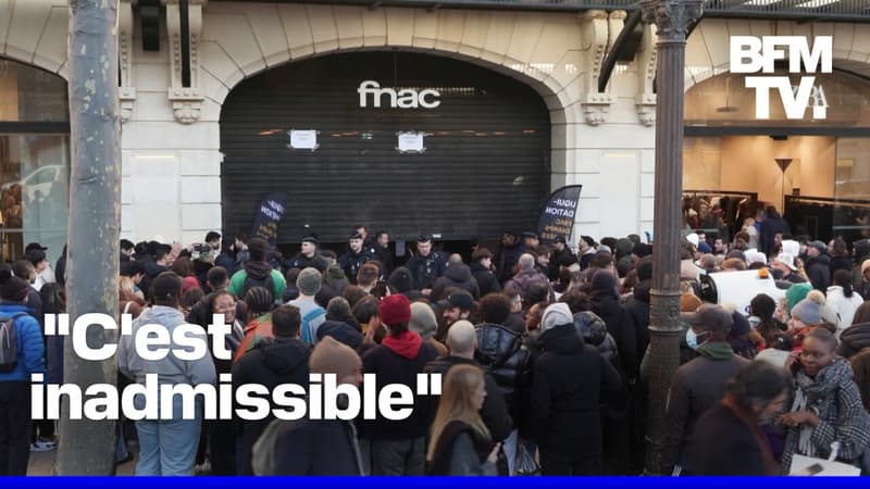
<instances>
[{"instance_id":1,"label":"closed black metal shutter beneath the white fnac sign","mask_svg":"<svg viewBox=\"0 0 870 489\"><path fill-rule=\"evenodd\" d=\"M363 80L435 88L435 109L360 108ZM306 225L345 241L355 224L396 239L444 240L532 229L549 192L549 113L522 83L417 53L358 52L290 63L239 84L221 114L223 220L249 233L260 199L286 190L278 242ZM315 151L288 130L316 129ZM424 131L425 151L399 153L398 131Z\"/></svg>"}]
</instances>

